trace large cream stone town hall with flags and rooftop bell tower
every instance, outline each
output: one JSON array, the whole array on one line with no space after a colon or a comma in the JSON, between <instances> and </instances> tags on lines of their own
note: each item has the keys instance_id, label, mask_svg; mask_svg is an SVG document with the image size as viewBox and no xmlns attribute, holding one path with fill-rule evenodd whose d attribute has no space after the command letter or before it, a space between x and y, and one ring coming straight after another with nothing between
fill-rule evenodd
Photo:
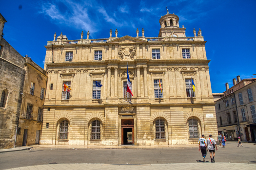
<instances>
[{"instance_id":1,"label":"large cream stone town hall with flags and rooftop bell tower","mask_svg":"<svg viewBox=\"0 0 256 170\"><path fill-rule=\"evenodd\" d=\"M136 37L110 30L104 39L89 39L89 31L79 40L54 34L45 46L40 144L178 145L217 137L206 41L201 30L186 37L178 20L161 17L158 37L145 37L144 29ZM133 96L126 92L127 65Z\"/></svg>"}]
</instances>

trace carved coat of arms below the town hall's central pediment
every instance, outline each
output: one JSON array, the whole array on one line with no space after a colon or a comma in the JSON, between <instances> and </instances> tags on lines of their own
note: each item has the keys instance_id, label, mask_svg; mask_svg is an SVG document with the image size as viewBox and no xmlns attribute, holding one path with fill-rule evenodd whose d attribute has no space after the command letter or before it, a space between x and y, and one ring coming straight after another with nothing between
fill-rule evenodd
<instances>
[{"instance_id":1,"label":"carved coat of arms below the town hall's central pediment","mask_svg":"<svg viewBox=\"0 0 256 170\"><path fill-rule=\"evenodd\" d=\"M118 56L121 60L133 60L136 54L135 47L119 47Z\"/></svg>"}]
</instances>

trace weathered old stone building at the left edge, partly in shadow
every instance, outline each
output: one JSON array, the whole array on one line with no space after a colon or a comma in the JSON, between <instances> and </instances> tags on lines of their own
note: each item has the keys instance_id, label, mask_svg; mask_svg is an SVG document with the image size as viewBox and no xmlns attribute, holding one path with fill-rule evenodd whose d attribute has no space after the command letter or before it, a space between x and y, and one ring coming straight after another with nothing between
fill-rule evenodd
<instances>
[{"instance_id":1,"label":"weathered old stone building at the left edge, partly in shadow","mask_svg":"<svg viewBox=\"0 0 256 170\"><path fill-rule=\"evenodd\" d=\"M3 37L0 14L0 149L39 143L47 73Z\"/></svg>"}]
</instances>

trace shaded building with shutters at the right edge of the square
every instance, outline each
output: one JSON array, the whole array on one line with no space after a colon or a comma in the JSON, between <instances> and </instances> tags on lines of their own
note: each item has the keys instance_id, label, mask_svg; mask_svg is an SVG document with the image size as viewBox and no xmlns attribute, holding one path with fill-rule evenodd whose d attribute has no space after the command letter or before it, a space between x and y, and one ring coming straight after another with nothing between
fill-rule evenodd
<instances>
[{"instance_id":1,"label":"shaded building with shutters at the right edge of the square","mask_svg":"<svg viewBox=\"0 0 256 170\"><path fill-rule=\"evenodd\" d=\"M218 133L237 140L241 132L242 141L256 141L256 78L236 78L215 103Z\"/></svg>"}]
</instances>

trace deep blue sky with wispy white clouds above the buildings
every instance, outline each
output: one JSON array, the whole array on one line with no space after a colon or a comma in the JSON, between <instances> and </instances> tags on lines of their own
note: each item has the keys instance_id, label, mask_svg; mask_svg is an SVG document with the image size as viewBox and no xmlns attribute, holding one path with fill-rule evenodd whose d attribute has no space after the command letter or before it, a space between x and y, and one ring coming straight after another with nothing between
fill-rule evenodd
<instances>
[{"instance_id":1,"label":"deep blue sky with wispy white clouds above the buildings","mask_svg":"<svg viewBox=\"0 0 256 170\"><path fill-rule=\"evenodd\" d=\"M144 28L146 37L157 37L159 18L169 13L179 17L186 36L202 30L210 62L213 93L225 91L232 79L256 74L256 0L4 0L0 13L8 21L6 39L22 56L27 54L43 68L47 41L62 32L68 39L136 36ZM84 34L86 37L86 34Z\"/></svg>"}]
</instances>

